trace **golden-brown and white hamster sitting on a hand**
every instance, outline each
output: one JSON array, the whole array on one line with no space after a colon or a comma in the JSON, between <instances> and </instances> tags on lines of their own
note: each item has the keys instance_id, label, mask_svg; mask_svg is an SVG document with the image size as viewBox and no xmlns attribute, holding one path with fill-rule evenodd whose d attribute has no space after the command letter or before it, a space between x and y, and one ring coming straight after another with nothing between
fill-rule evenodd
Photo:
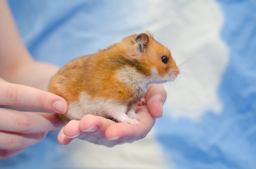
<instances>
[{"instance_id":1,"label":"golden-brown and white hamster sitting on a hand","mask_svg":"<svg viewBox=\"0 0 256 169\"><path fill-rule=\"evenodd\" d=\"M175 80L180 73L170 51L146 31L68 62L52 77L48 91L69 103L63 122L93 114L139 125L136 106L148 84Z\"/></svg>"}]
</instances>

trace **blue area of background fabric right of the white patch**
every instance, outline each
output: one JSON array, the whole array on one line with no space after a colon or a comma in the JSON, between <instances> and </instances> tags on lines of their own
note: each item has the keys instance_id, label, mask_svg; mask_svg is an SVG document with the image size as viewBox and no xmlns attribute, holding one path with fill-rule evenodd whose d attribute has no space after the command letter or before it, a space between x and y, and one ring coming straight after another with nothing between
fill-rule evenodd
<instances>
[{"instance_id":1,"label":"blue area of background fabric right of the white patch","mask_svg":"<svg viewBox=\"0 0 256 169\"><path fill-rule=\"evenodd\" d=\"M218 90L222 112L208 112L200 122L164 115L156 124L178 169L256 167L256 1L218 3L225 14L221 37L230 51Z\"/></svg>"}]
</instances>

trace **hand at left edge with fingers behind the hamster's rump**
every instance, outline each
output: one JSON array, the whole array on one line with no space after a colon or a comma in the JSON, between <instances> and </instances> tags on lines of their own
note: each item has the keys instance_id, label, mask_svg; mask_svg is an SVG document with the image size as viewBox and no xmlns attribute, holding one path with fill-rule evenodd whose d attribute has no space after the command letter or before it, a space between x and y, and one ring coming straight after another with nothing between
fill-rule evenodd
<instances>
[{"instance_id":1,"label":"hand at left edge with fingers behind the hamster's rump","mask_svg":"<svg viewBox=\"0 0 256 169\"><path fill-rule=\"evenodd\" d=\"M0 78L0 105L36 107L65 113L65 99L47 91L8 83ZM0 108L0 159L15 156L63 123L55 113L22 112Z\"/></svg>"}]
</instances>

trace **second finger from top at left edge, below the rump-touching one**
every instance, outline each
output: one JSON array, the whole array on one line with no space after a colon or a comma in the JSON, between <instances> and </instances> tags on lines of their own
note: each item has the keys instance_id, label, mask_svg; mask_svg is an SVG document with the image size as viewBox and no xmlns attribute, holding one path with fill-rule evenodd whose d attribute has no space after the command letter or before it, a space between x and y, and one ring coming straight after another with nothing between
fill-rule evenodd
<instances>
[{"instance_id":1,"label":"second finger from top at left edge, below the rump-touching one","mask_svg":"<svg viewBox=\"0 0 256 169\"><path fill-rule=\"evenodd\" d=\"M0 130L35 133L55 130L63 126L55 113L21 112L0 108Z\"/></svg>"}]
</instances>

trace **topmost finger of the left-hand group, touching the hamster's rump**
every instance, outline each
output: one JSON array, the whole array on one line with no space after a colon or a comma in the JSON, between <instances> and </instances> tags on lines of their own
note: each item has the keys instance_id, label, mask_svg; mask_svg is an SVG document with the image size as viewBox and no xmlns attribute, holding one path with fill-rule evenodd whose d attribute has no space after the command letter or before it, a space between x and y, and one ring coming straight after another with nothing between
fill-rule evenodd
<instances>
[{"instance_id":1,"label":"topmost finger of the left-hand group, touching the hamster's rump","mask_svg":"<svg viewBox=\"0 0 256 169\"><path fill-rule=\"evenodd\" d=\"M0 86L1 105L37 107L56 113L67 111L67 101L53 93L7 82L0 82Z\"/></svg>"}]
</instances>

